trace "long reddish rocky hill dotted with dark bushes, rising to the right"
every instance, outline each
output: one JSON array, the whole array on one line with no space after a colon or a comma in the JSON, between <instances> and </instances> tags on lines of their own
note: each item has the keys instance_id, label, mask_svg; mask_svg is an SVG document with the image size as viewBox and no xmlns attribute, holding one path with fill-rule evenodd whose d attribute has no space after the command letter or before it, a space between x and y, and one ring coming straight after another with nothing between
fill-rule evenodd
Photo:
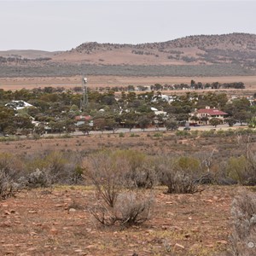
<instances>
[{"instance_id":1,"label":"long reddish rocky hill dotted with dark bushes, rising to the right","mask_svg":"<svg viewBox=\"0 0 256 256\"><path fill-rule=\"evenodd\" d=\"M55 61L80 61L113 65L201 65L236 63L255 67L256 35L189 36L163 43L85 43L60 55Z\"/></svg>"}]
</instances>

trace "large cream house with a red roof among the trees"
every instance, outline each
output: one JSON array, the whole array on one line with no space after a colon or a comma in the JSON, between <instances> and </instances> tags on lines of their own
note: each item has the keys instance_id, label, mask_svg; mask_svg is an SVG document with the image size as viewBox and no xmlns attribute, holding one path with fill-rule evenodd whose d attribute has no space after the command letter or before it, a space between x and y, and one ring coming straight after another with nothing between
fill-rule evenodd
<instances>
[{"instance_id":1,"label":"large cream house with a red roof among the trees","mask_svg":"<svg viewBox=\"0 0 256 256\"><path fill-rule=\"evenodd\" d=\"M223 121L228 115L228 113L218 110L217 108L206 107L198 110L195 109L195 113L192 113L190 119L198 121L199 124L207 125L210 119L216 118Z\"/></svg>"}]
</instances>

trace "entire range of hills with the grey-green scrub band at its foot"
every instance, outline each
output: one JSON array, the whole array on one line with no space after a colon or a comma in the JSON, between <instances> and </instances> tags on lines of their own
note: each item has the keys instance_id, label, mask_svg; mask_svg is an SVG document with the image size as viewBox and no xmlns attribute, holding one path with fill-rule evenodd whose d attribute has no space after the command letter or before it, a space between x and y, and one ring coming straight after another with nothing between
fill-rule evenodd
<instances>
[{"instance_id":1,"label":"entire range of hills with the grey-green scrub band at its foot","mask_svg":"<svg viewBox=\"0 0 256 256\"><path fill-rule=\"evenodd\" d=\"M218 72L219 75L234 75L234 70L237 75L256 74L256 35L199 35L147 44L90 42L56 52L0 51L1 77L74 75L93 73L93 70L94 74L133 75L133 68L137 71L135 66L141 70L135 75L157 75L157 70L160 75L168 75L168 67L171 68L169 75L189 76L189 69L197 70L195 75L214 76ZM178 67L183 70L182 73L175 71ZM213 73L210 72L211 67L214 67Z\"/></svg>"}]
</instances>

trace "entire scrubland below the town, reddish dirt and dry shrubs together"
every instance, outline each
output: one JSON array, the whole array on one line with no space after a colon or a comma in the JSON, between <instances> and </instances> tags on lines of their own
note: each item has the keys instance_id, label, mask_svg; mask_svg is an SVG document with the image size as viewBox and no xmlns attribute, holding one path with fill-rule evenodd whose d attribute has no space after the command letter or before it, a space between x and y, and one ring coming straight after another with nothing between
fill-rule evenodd
<instances>
[{"instance_id":1,"label":"entire scrubland below the town, reddish dirt and dry shrubs together","mask_svg":"<svg viewBox=\"0 0 256 256\"><path fill-rule=\"evenodd\" d=\"M0 252L253 255L253 130L1 143Z\"/></svg>"}]
</instances>

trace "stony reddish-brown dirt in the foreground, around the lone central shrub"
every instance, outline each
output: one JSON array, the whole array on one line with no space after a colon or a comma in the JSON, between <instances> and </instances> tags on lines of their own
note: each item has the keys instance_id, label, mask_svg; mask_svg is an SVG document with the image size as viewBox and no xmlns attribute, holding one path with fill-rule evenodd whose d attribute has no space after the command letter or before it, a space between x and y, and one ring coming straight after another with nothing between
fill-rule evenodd
<instances>
[{"instance_id":1,"label":"stony reddish-brown dirt in the foreground, around the lone central shrub","mask_svg":"<svg viewBox=\"0 0 256 256\"><path fill-rule=\"evenodd\" d=\"M23 191L0 202L0 254L224 255L236 190L208 186L195 195L166 195L166 188L154 189L151 219L124 230L92 218L91 188Z\"/></svg>"}]
</instances>

